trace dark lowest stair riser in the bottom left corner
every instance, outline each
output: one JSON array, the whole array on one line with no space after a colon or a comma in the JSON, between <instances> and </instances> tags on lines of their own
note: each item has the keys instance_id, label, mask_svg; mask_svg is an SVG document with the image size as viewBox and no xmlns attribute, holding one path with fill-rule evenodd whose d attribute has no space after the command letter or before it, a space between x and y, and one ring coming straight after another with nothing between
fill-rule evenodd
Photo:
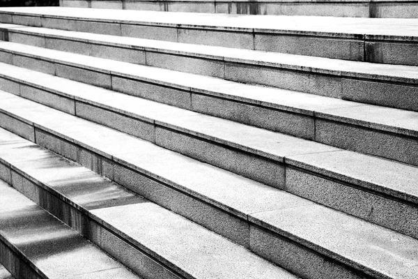
<instances>
[{"instance_id":1,"label":"dark lowest stair riser in the bottom left corner","mask_svg":"<svg viewBox=\"0 0 418 279\"><path fill-rule=\"evenodd\" d=\"M3 238L0 239L0 264L6 267L15 278L27 279L46 279L46 276L40 275L39 271L33 269L24 262L24 256L18 252L9 242ZM10 278L12 279L12 278Z\"/></svg>"}]
</instances>

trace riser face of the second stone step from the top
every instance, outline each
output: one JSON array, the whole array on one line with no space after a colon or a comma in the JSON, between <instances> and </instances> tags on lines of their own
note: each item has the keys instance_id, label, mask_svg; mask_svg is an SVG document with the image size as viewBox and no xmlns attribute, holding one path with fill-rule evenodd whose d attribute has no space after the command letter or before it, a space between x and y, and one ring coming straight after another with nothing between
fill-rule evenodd
<instances>
[{"instance_id":1,"label":"riser face of the second stone step from the top","mask_svg":"<svg viewBox=\"0 0 418 279\"><path fill-rule=\"evenodd\" d=\"M211 56L208 59L206 56L190 56L186 52L180 55L165 51L132 50L111 44L98 45L85 43L82 40L32 36L27 33L15 32L13 29L3 31L3 33L5 34L2 38L7 38L13 43L220 77L235 82L263 84L320 96L343 98L359 103L418 110L418 89L413 84L398 84L383 80L357 80L347 76L312 73L302 68L292 70L279 66L252 65L242 60L224 61L227 58L222 56ZM323 47L313 48L323 49ZM396 92L397 98L393 98L394 92Z\"/></svg>"}]
</instances>

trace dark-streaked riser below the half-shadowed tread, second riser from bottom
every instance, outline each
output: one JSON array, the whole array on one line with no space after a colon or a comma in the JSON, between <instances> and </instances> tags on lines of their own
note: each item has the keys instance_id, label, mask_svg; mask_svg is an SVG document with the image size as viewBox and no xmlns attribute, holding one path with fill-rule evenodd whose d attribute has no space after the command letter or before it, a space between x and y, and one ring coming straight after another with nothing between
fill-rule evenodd
<instances>
[{"instance_id":1,"label":"dark-streaked riser below the half-shadowed tread, second riser from bottom","mask_svg":"<svg viewBox=\"0 0 418 279\"><path fill-rule=\"evenodd\" d=\"M52 193L53 190L48 186L34 180L28 174L22 173L20 169L11 169L10 166L0 163L0 178L59 218L63 223L83 234L142 278L183 278L176 276L167 266L156 262L143 251L127 243L118 232L113 232L111 228L105 227L100 219L92 217L88 211L80 209L79 206L69 202L59 193Z\"/></svg>"}]
</instances>

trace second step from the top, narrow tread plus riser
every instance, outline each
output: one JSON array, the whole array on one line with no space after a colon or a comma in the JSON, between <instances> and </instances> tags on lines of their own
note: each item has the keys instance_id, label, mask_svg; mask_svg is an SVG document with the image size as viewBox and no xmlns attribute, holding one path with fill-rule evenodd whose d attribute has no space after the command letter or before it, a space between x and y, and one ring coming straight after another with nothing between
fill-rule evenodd
<instances>
[{"instance_id":1,"label":"second step from the top, narrow tread plus riser","mask_svg":"<svg viewBox=\"0 0 418 279\"><path fill-rule=\"evenodd\" d=\"M0 30L3 30L0 37L14 43L418 111L416 66L388 66L15 24L1 24ZM26 50L14 45L10 48L17 52Z\"/></svg>"}]
</instances>

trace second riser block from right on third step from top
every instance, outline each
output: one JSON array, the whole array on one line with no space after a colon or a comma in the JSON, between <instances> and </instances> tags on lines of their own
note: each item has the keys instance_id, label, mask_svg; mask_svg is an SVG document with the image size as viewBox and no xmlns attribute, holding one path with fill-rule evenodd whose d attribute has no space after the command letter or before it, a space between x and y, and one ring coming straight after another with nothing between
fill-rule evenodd
<instances>
[{"instance_id":1,"label":"second riser block from right on third step from top","mask_svg":"<svg viewBox=\"0 0 418 279\"><path fill-rule=\"evenodd\" d=\"M314 120L309 116L272 110L192 93L192 110L247 125L314 140Z\"/></svg>"}]
</instances>

